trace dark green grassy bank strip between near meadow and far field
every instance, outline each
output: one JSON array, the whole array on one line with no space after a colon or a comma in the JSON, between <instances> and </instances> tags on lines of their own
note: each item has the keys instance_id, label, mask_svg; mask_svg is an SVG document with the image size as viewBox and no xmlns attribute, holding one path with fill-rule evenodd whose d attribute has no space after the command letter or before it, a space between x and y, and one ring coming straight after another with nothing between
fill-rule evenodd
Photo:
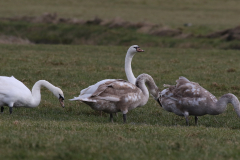
<instances>
[{"instance_id":1,"label":"dark green grassy bank strip between near meadow and far field","mask_svg":"<svg viewBox=\"0 0 240 160\"><path fill-rule=\"evenodd\" d=\"M48 24L0 21L0 33L28 39L36 44L85 44L85 45L125 45L134 43L165 48L239 49L239 41L219 38L200 38L205 28L185 29L185 33L198 32L189 38L164 37L140 33L137 28L100 26L94 24ZM6 39L2 38L2 41ZM11 43L5 40L6 43ZM14 42L13 42L14 43Z\"/></svg>"}]
</instances>

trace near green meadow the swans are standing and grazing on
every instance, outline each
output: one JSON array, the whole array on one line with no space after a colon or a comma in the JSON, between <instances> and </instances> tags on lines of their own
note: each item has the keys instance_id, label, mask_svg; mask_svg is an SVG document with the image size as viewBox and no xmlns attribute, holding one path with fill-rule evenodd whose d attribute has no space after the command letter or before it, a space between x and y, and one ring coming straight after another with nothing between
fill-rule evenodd
<instances>
[{"instance_id":1,"label":"near green meadow the swans are standing and grazing on","mask_svg":"<svg viewBox=\"0 0 240 160\"><path fill-rule=\"evenodd\" d=\"M138 43L139 44L139 43ZM139 44L140 45L140 44ZM167 49L140 45L135 76L150 74L157 86L179 76L220 97L240 97L240 51ZM129 46L128 46L129 47ZM109 115L68 99L102 79L126 79L128 47L77 45L0 45L0 75L15 76L30 89L40 79L60 87L65 108L47 89L37 108L8 107L0 115L0 159L239 159L240 120L233 107L218 116L199 117L199 126L163 110L152 98L109 122Z\"/></svg>"}]
</instances>

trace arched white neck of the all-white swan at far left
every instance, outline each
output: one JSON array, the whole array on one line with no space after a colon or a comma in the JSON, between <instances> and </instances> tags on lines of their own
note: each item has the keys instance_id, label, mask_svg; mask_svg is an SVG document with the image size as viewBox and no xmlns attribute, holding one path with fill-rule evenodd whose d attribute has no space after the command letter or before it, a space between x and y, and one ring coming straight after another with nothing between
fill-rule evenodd
<instances>
[{"instance_id":1,"label":"arched white neck of the all-white swan at far left","mask_svg":"<svg viewBox=\"0 0 240 160\"><path fill-rule=\"evenodd\" d=\"M40 90L41 90L42 86L46 87L51 92L54 92L54 89L56 88L54 85L52 85L48 81L45 81L45 80L37 81L32 88L32 101L30 104L31 107L37 107L39 105L39 103L41 101Z\"/></svg>"}]
</instances>

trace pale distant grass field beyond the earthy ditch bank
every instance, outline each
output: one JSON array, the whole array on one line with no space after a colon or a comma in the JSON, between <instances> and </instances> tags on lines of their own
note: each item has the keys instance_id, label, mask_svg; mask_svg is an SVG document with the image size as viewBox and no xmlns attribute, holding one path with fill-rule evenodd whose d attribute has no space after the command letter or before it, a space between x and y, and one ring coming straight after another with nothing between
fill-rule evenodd
<instances>
[{"instance_id":1,"label":"pale distant grass field beyond the earthy ditch bank","mask_svg":"<svg viewBox=\"0 0 240 160\"><path fill-rule=\"evenodd\" d=\"M148 21L174 27L192 23L193 28L209 30L239 25L238 0L8 0L0 2L1 17L39 16L45 12L61 17L80 19L112 19L121 17L130 22Z\"/></svg>"}]
</instances>

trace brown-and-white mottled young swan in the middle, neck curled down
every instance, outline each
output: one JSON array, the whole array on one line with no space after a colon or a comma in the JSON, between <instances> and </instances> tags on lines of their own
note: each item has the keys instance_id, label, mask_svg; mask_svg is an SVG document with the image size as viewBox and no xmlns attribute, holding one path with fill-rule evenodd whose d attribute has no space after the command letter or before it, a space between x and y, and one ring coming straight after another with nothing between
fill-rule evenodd
<instances>
[{"instance_id":1,"label":"brown-and-white mottled young swan in the middle, neck curled down","mask_svg":"<svg viewBox=\"0 0 240 160\"><path fill-rule=\"evenodd\" d=\"M150 93L155 100L160 97L160 91L153 78L148 74L141 74L136 79L136 85L121 79L103 80L81 91L78 97L71 101L82 101L92 109L110 113L110 121L113 121L112 113L122 112L123 121L126 122L126 114L129 110L143 106Z\"/></svg>"}]
</instances>

